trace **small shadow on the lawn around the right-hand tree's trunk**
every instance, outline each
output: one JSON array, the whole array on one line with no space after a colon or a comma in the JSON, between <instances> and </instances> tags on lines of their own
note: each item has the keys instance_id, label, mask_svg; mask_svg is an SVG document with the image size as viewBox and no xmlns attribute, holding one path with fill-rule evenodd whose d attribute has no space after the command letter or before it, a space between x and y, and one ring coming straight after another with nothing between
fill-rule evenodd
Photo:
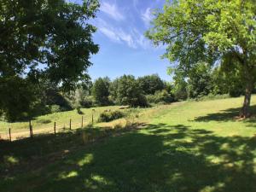
<instances>
[{"instance_id":1,"label":"small shadow on the lawn around the right-hand tree's trunk","mask_svg":"<svg viewBox=\"0 0 256 192\"><path fill-rule=\"evenodd\" d=\"M240 112L241 108L229 108L223 110L220 113L209 113L206 116L196 117L195 121L231 121L234 120ZM250 108L253 117L250 119L246 119L246 122L256 123L256 105Z\"/></svg>"}]
</instances>

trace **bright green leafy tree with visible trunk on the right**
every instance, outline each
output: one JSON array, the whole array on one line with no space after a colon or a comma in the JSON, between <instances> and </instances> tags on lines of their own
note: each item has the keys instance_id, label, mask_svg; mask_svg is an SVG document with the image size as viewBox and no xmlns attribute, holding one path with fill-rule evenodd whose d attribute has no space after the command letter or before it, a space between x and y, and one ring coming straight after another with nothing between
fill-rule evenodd
<instances>
[{"instance_id":1,"label":"bright green leafy tree with visible trunk on the right","mask_svg":"<svg viewBox=\"0 0 256 192\"><path fill-rule=\"evenodd\" d=\"M166 1L146 33L166 44L166 58L188 73L196 63L236 67L245 90L241 116L249 116L256 77L256 3L254 0Z\"/></svg>"}]
</instances>

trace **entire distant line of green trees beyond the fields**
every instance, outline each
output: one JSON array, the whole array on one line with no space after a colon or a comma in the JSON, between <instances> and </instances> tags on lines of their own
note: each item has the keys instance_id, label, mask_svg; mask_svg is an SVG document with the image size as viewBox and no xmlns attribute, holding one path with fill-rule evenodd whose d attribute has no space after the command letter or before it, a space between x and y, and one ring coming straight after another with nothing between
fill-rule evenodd
<instances>
[{"instance_id":1,"label":"entire distant line of green trees beyond the fields","mask_svg":"<svg viewBox=\"0 0 256 192\"><path fill-rule=\"evenodd\" d=\"M69 92L62 91L57 84L47 80L37 85L15 81L12 88L22 87L24 91L19 96L22 96L23 102L9 102L12 106L4 113L4 118L15 121L75 108L79 111L79 108L108 105L147 107L206 96L241 96L243 87L237 79L236 75L226 75L218 68L212 70L207 65L199 65L194 73L186 77L176 71L172 82L160 79L157 74L137 79L132 75L123 75L113 81L105 77L79 84L76 90Z\"/></svg>"}]
</instances>

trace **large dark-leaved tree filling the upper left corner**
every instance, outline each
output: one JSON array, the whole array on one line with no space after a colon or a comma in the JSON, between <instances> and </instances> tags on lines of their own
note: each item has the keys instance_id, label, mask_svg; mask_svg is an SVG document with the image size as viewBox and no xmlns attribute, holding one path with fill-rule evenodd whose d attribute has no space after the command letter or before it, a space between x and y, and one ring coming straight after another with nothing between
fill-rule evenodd
<instances>
[{"instance_id":1,"label":"large dark-leaved tree filling the upper left corner","mask_svg":"<svg viewBox=\"0 0 256 192\"><path fill-rule=\"evenodd\" d=\"M72 90L77 82L88 79L90 55L98 45L92 41L96 27L88 22L96 16L97 0L82 4L65 0L0 0L0 110L6 111L5 98L25 90L11 89L14 80L33 84L49 79L63 90ZM13 110L13 109L12 109Z\"/></svg>"}]
</instances>

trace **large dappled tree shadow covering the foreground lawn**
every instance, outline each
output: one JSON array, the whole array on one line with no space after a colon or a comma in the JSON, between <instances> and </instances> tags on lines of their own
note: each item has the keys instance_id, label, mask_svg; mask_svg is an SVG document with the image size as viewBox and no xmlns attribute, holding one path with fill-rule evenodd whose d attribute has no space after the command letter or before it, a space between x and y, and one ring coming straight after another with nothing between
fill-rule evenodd
<instances>
[{"instance_id":1,"label":"large dappled tree shadow covering the foreground lawn","mask_svg":"<svg viewBox=\"0 0 256 192\"><path fill-rule=\"evenodd\" d=\"M29 144L26 141L6 145L8 151L3 154L26 159L26 164L33 168L1 179L2 189L6 192L256 191L255 137L216 137L211 131L185 125L159 124L109 137L101 143L87 146L80 143L78 147L77 136L68 134L59 136L58 142L62 143L59 146L54 137L38 138L43 139L42 145L33 140L29 146L35 144L39 151L43 150L41 157L31 148L26 151ZM50 160L51 148L60 153L55 160ZM63 153L67 149L69 152ZM39 155L39 159L34 155ZM44 163L32 166L37 161Z\"/></svg>"}]
</instances>

